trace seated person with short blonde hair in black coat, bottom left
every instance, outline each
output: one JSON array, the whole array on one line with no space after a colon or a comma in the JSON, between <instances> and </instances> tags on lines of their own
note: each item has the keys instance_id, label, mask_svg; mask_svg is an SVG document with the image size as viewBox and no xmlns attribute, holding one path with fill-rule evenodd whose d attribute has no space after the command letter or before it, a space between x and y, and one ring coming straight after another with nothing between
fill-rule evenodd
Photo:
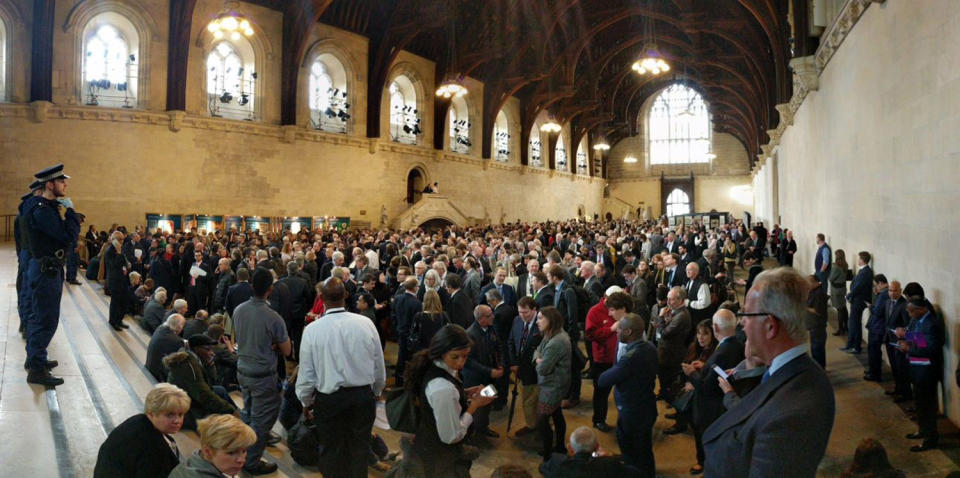
<instances>
[{"instance_id":1,"label":"seated person with short blonde hair in black coat, bottom left","mask_svg":"<svg viewBox=\"0 0 960 478\"><path fill-rule=\"evenodd\" d=\"M180 464L170 435L180 431L190 397L158 383L144 399L144 413L126 419L100 445L94 478L166 478Z\"/></svg>"}]
</instances>

